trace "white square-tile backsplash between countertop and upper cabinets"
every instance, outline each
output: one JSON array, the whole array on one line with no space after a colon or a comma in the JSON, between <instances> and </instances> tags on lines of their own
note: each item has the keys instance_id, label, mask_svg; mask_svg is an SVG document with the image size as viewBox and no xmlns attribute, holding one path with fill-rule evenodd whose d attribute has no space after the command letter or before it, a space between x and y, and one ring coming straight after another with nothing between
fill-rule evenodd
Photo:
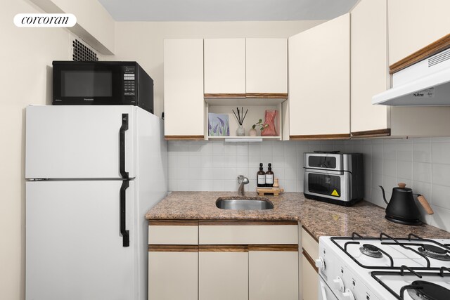
<instances>
[{"instance_id":1,"label":"white square-tile backsplash between countertop and upper cabinets","mask_svg":"<svg viewBox=\"0 0 450 300\"><path fill-rule=\"evenodd\" d=\"M238 175L250 179L245 190L255 190L259 163L272 164L275 177L287 192L303 191L303 153L317 150L362 152L365 199L386 207L378 185L389 200L392 188L404 182L425 195L435 210L427 223L450 231L450 138L352 141L169 141L169 190L232 191Z\"/></svg>"}]
</instances>

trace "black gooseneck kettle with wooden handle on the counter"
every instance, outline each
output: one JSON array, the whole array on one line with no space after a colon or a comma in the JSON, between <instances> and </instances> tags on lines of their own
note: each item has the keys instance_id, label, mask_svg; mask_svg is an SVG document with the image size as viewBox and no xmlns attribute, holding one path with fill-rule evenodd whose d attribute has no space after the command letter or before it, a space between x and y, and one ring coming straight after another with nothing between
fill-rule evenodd
<instances>
[{"instance_id":1,"label":"black gooseneck kettle with wooden handle on the counter","mask_svg":"<svg viewBox=\"0 0 450 300\"><path fill-rule=\"evenodd\" d=\"M406 188L405 183L399 183L398 188L392 188L392 197L389 203L386 201L385 189L378 185L383 191L383 200L385 200L386 216L385 218L395 223L406 225L420 225L420 211L414 201L413 195L418 195L417 200L422 204L428 214L433 214L433 210L428 201L420 194L413 194L411 188Z\"/></svg>"}]
</instances>

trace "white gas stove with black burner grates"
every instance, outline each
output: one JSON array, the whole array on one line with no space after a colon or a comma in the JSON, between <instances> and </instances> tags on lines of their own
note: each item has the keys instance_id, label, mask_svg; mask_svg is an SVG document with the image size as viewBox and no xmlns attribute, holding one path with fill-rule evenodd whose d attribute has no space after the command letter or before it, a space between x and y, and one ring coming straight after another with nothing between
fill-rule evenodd
<instances>
[{"instance_id":1,"label":"white gas stove with black burner grates","mask_svg":"<svg viewBox=\"0 0 450 300\"><path fill-rule=\"evenodd\" d=\"M320 237L319 299L450 300L450 240Z\"/></svg>"}]
</instances>

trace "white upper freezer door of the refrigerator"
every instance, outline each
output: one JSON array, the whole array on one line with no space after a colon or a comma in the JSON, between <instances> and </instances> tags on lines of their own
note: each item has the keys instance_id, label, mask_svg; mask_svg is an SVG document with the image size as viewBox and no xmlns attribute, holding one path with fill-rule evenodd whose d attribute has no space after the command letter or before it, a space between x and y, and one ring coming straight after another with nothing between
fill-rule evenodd
<instances>
[{"instance_id":1,"label":"white upper freezer door of the refrigerator","mask_svg":"<svg viewBox=\"0 0 450 300\"><path fill-rule=\"evenodd\" d=\"M29 106L25 178L134 178L135 136L135 106Z\"/></svg>"}]
</instances>

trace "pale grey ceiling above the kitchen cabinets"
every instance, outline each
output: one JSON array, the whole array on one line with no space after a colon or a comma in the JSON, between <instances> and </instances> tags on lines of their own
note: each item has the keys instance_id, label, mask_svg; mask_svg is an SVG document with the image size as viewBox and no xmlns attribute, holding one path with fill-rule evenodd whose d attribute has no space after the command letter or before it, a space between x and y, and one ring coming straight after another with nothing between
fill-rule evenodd
<instances>
[{"instance_id":1,"label":"pale grey ceiling above the kitchen cabinets","mask_svg":"<svg viewBox=\"0 0 450 300\"><path fill-rule=\"evenodd\" d=\"M116 21L329 20L358 0L98 0Z\"/></svg>"}]
</instances>

